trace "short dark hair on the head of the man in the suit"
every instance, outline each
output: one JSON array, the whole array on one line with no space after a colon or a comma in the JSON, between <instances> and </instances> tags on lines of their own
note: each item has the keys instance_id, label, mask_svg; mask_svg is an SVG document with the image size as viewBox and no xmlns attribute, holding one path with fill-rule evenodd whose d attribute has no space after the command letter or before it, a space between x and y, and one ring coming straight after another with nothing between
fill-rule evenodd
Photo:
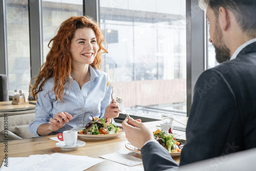
<instances>
[{"instance_id":1,"label":"short dark hair on the head of the man in the suit","mask_svg":"<svg viewBox=\"0 0 256 171\"><path fill-rule=\"evenodd\" d=\"M229 9L247 36L256 37L256 0L199 0L200 8L206 10L207 6L216 17L220 7Z\"/></svg>"}]
</instances>

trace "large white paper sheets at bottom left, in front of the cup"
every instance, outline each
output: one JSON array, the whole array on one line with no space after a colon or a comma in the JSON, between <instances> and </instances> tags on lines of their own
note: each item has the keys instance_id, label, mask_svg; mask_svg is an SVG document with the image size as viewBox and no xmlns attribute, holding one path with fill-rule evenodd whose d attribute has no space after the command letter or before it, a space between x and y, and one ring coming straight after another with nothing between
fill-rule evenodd
<instances>
[{"instance_id":1,"label":"large white paper sheets at bottom left, in front of the cup","mask_svg":"<svg viewBox=\"0 0 256 171\"><path fill-rule=\"evenodd\" d=\"M37 171L69 171L69 170L85 170L102 161L103 159L96 159L87 156L75 156L68 154L54 153L52 155L31 155L23 159L19 164L14 164L11 161L16 158L8 158L10 163L8 167L2 165L1 171L10 170L37 170Z\"/></svg>"}]
</instances>

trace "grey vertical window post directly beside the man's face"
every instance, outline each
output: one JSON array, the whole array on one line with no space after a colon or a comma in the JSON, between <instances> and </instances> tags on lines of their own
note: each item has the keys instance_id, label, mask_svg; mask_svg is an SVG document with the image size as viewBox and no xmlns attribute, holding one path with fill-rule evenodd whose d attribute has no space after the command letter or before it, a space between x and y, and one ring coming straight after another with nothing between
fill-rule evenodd
<instances>
[{"instance_id":1,"label":"grey vertical window post directly beside the man's face","mask_svg":"<svg viewBox=\"0 0 256 171\"><path fill-rule=\"evenodd\" d=\"M205 14L198 0L186 0L187 20L187 117L193 102L193 92L199 76L206 69ZM201 47L198 49L198 47Z\"/></svg>"}]
</instances>

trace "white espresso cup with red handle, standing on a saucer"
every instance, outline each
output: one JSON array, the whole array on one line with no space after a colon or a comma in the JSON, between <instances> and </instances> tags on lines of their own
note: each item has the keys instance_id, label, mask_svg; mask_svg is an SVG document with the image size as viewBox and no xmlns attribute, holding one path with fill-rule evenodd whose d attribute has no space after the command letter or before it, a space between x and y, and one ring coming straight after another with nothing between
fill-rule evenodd
<instances>
[{"instance_id":1,"label":"white espresso cup with red handle, standing on a saucer","mask_svg":"<svg viewBox=\"0 0 256 171\"><path fill-rule=\"evenodd\" d=\"M77 141L77 131L63 131L63 133L58 133L57 138L64 141L66 146L74 146Z\"/></svg>"}]
</instances>

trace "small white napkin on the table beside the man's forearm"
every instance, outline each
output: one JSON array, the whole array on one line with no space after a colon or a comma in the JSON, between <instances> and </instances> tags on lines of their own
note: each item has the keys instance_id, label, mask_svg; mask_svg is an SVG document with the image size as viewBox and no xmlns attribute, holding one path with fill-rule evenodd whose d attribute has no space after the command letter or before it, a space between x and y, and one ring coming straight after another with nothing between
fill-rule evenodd
<instances>
[{"instance_id":1,"label":"small white napkin on the table beside the man's forearm","mask_svg":"<svg viewBox=\"0 0 256 171\"><path fill-rule=\"evenodd\" d=\"M111 160L117 163L121 163L127 166L135 166L138 164L142 164L142 160L134 157L134 156L130 156L127 154L120 154L120 153L112 153L112 154L108 154L108 155L103 155L103 156L99 156L101 158L107 159L107 160Z\"/></svg>"}]
</instances>

